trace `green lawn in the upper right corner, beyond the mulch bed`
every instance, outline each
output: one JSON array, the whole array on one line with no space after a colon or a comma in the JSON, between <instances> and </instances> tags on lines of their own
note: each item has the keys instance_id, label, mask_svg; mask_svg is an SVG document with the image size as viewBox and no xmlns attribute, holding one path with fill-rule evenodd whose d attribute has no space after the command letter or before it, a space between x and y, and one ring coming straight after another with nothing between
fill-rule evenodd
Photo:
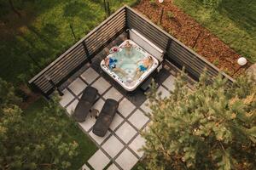
<instances>
[{"instance_id":1,"label":"green lawn in the upper right corner, beyond the mulch bed","mask_svg":"<svg viewBox=\"0 0 256 170\"><path fill-rule=\"evenodd\" d=\"M256 1L223 0L217 15L212 17L209 10L198 1L175 0L177 7L212 31L226 44L256 62Z\"/></svg>"}]
</instances>

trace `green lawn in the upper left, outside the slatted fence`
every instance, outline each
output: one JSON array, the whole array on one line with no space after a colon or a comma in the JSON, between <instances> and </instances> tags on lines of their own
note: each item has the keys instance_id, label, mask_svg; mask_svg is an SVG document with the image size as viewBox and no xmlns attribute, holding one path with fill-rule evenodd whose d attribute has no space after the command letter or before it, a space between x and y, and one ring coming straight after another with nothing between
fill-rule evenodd
<instances>
[{"instance_id":1,"label":"green lawn in the upper left, outside the slatted fence","mask_svg":"<svg viewBox=\"0 0 256 170\"><path fill-rule=\"evenodd\" d=\"M21 19L9 9L8 1L0 1L5 2L0 3L0 21L7 26L3 31L0 26L0 77L13 83L20 77L31 78L77 41L70 25L79 39L105 19L103 0L15 1ZM137 1L109 2L115 11Z\"/></svg>"}]
</instances>

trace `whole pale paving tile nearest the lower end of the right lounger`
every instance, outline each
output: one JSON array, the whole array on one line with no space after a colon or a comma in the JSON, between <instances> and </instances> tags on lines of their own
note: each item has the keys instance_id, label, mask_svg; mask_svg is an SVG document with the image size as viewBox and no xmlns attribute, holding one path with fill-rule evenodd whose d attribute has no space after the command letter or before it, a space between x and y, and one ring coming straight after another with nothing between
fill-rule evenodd
<instances>
[{"instance_id":1,"label":"whole pale paving tile nearest the lower end of the right lounger","mask_svg":"<svg viewBox=\"0 0 256 170\"><path fill-rule=\"evenodd\" d=\"M112 158L116 156L120 150L124 148L124 144L122 144L119 139L115 136L111 136L103 145L103 150L105 150L109 156Z\"/></svg>"}]
</instances>

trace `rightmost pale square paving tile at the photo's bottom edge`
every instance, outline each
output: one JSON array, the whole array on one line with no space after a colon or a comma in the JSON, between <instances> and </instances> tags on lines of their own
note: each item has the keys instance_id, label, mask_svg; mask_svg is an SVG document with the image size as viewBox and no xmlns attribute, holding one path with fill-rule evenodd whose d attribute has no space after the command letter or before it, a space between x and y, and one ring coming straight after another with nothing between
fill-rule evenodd
<instances>
[{"instance_id":1,"label":"rightmost pale square paving tile at the photo's bottom edge","mask_svg":"<svg viewBox=\"0 0 256 170\"><path fill-rule=\"evenodd\" d=\"M138 159L130 150L125 149L115 160L124 170L130 170L137 163Z\"/></svg>"}]
</instances>

